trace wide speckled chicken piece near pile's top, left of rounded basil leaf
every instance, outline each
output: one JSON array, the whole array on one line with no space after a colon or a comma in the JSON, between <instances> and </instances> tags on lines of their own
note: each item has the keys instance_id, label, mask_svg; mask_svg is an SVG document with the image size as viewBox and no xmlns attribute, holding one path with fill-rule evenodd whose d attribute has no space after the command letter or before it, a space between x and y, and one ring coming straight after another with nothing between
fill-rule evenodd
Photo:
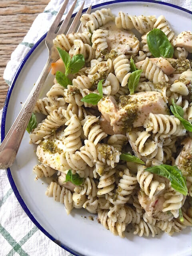
<instances>
[{"instance_id":1,"label":"wide speckled chicken piece near pile's top, left of rounded basil leaf","mask_svg":"<svg viewBox=\"0 0 192 256\"><path fill-rule=\"evenodd\" d=\"M101 27L108 30L109 36L107 37L108 51L115 50L122 52L125 55L137 54L139 51L139 40L133 32L119 29L116 27L115 22L108 22Z\"/></svg>"}]
</instances>

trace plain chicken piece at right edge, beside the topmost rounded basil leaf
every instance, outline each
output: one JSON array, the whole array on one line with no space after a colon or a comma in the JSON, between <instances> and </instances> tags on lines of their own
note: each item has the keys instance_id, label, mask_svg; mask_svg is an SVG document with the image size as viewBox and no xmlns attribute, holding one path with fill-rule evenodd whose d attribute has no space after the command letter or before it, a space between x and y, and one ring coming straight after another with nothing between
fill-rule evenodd
<instances>
[{"instance_id":1,"label":"plain chicken piece at right edge, beside the topmost rounded basil leaf","mask_svg":"<svg viewBox=\"0 0 192 256\"><path fill-rule=\"evenodd\" d=\"M183 31L172 42L175 47L183 47L188 52L192 52L192 33L190 31Z\"/></svg>"}]
</instances>

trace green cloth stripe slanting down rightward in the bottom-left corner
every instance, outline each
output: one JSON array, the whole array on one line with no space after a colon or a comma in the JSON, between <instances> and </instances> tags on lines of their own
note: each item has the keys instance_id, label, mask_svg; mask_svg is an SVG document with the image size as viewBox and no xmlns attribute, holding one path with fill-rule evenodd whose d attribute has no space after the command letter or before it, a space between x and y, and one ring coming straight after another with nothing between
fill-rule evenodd
<instances>
[{"instance_id":1,"label":"green cloth stripe slanting down rightward in the bottom-left corner","mask_svg":"<svg viewBox=\"0 0 192 256\"><path fill-rule=\"evenodd\" d=\"M0 233L7 240L7 242L13 247L13 250L15 252L17 252L20 256L29 256L29 254L26 253L21 248L20 244L18 244L16 242L16 240L14 240L14 238L12 238L12 236L9 234L9 232L7 232L7 230L1 224L0 224ZM10 254L10 255L13 255L13 254Z\"/></svg>"}]
</instances>

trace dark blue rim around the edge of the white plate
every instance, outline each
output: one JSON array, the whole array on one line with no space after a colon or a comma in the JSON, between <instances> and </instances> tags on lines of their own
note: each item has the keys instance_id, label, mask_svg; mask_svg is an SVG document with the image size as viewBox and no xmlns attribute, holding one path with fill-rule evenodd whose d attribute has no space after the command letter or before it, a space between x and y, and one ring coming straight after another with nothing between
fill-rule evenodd
<instances>
[{"instance_id":1,"label":"dark blue rim around the edge of the white plate","mask_svg":"<svg viewBox=\"0 0 192 256\"><path fill-rule=\"evenodd\" d=\"M149 3L156 3L156 4L163 4L163 5L167 5L167 6L171 6L173 8L176 8L176 9L179 9L179 10L182 10L184 12L188 12L190 14L192 14L191 11L189 10L186 10L180 6L177 6L177 5L174 5L174 4L170 4L170 3L165 3L165 2L160 2L160 1L156 1L156 0L114 0L114 1L110 1L110 2L104 2L104 3L101 3L101 4L96 4L94 6L92 6L92 9L95 9L95 8L98 8L100 6L104 6L104 5L110 5L110 4L115 4L115 3L119 3L119 2L149 2ZM82 12L85 12L87 10L84 9ZM73 14L72 17L74 17L76 15ZM47 33L46 33L47 34ZM20 66L18 67L18 70L16 71L16 74L12 80L12 84L8 90L8 93L7 93L7 96L6 96L6 100L5 100L5 104L4 104L4 108L3 108L3 113L2 113L2 124L1 124L1 142L4 140L4 137L5 137L5 122L6 122L6 113L7 113L7 108L8 108L8 103L9 103L9 100L10 100L10 96L11 96L11 93L12 93L12 90L14 88L14 85L16 83L16 80L24 66L24 64L26 63L26 61L28 60L28 58L30 57L30 55L34 52L34 50L38 47L38 45L45 39L46 37L46 34L44 34L37 42L36 44L34 44L34 46L30 49L30 51L26 54L26 56L24 57L24 59L22 60ZM20 196L19 192L18 192L18 189L16 187L16 184L12 178L12 175L11 175L11 171L10 171L10 168L7 168L6 170L7 172L7 176L8 176L8 179L9 179L9 182L11 184L11 187L12 187L12 190L14 191L14 194L17 198L17 200L19 201L20 205L22 206L23 210L26 212L26 214L28 215L28 217L32 220L32 222L46 235L48 236L48 238L50 238L53 242L55 242L56 244L58 244L59 246L61 246L63 249L67 250L68 252L76 255L76 256L82 256L82 254L74 251L73 249L71 248L68 248L67 246L65 246L64 244L61 244L60 241L56 240L53 236L51 236L40 224L39 222L34 218L34 216L32 215L32 213L30 212L30 210L27 208L26 204L24 203L22 197Z\"/></svg>"}]
</instances>

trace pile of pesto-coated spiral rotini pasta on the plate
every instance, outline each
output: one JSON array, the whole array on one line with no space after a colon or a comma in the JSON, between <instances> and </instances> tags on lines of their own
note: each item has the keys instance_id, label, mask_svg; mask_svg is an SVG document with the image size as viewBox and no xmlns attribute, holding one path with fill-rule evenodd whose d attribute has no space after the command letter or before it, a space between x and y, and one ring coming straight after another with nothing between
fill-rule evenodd
<instances>
[{"instance_id":1,"label":"pile of pesto-coated spiral rotini pasta on the plate","mask_svg":"<svg viewBox=\"0 0 192 256\"><path fill-rule=\"evenodd\" d=\"M185 45L191 33L176 35L164 16L119 12L114 17L110 9L83 14L81 22L81 33L61 34L53 41L71 57L83 54L85 66L68 75L72 85L63 87L55 79L46 97L36 102L34 112L45 117L30 134L30 141L38 144L40 162L34 172L37 178L50 177L46 195L64 204L67 214L73 208L98 214L99 222L115 235L124 237L128 224L139 236L180 232L192 224L192 176L186 165L180 164L182 157L186 160L185 152L188 166L191 164L191 133L170 112L150 112L142 126L113 132L98 106L81 99L98 94L98 82L104 79L101 101L109 98L120 104L122 97L130 95L133 58L143 70L134 94L155 93L167 108L173 98L176 106L182 107L184 119L191 122L192 71L187 58L191 46ZM147 44L147 34L153 28L166 34L174 47L173 58L153 58ZM141 40L133 31L141 34ZM62 71L60 63L58 60L56 66ZM110 111L108 105L105 111ZM121 160L123 152L140 158L144 165ZM182 170L187 196L174 190L167 178L144 171L160 164L177 165ZM69 170L82 179L80 185L66 182Z\"/></svg>"}]
</instances>

